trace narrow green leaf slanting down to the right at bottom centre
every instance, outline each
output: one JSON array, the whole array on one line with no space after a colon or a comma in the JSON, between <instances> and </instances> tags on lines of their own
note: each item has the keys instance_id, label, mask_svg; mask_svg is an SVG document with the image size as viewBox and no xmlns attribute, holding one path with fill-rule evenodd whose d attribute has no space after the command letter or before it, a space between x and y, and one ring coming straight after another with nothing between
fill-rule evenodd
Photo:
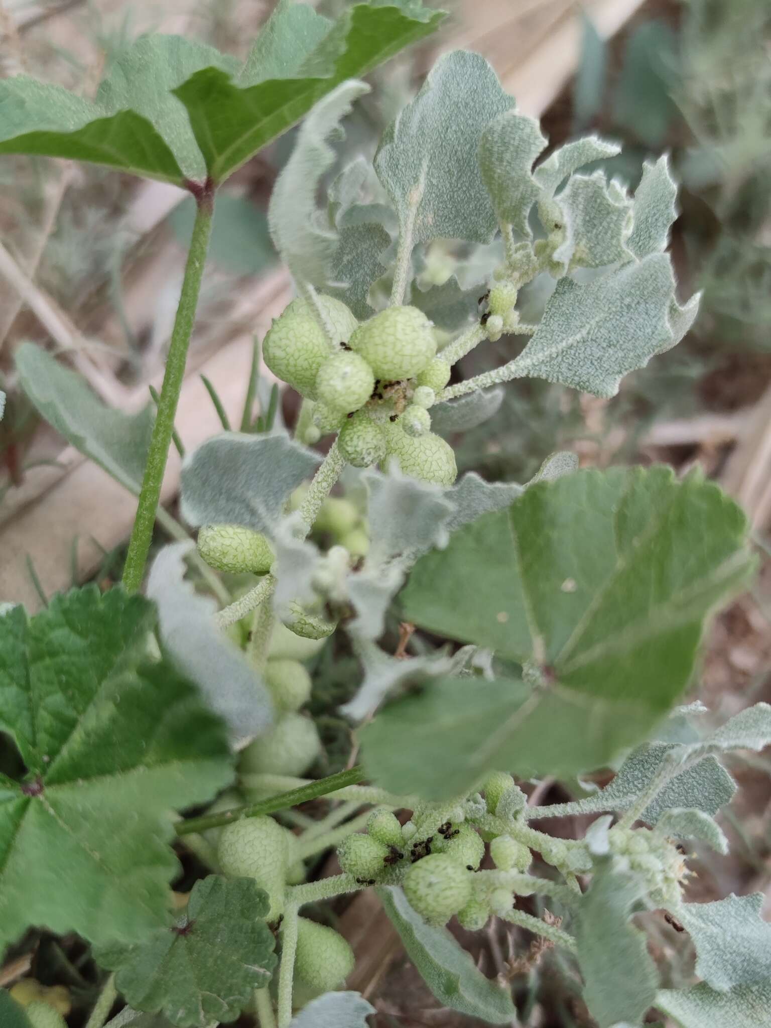
<instances>
[{"instance_id":1,"label":"narrow green leaf slanting down to the right at bottom centre","mask_svg":"<svg viewBox=\"0 0 771 1028\"><path fill-rule=\"evenodd\" d=\"M446 928L427 924L401 888L380 886L377 894L407 955L440 1003L487 1024L515 1021L509 987L485 978Z\"/></svg>"}]
</instances>

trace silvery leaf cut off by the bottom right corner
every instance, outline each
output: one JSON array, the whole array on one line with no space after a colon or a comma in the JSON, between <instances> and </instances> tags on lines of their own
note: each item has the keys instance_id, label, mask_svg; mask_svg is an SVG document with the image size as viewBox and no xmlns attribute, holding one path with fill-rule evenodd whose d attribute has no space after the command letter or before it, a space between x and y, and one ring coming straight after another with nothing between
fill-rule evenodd
<instances>
[{"instance_id":1,"label":"silvery leaf cut off by the bottom right corner","mask_svg":"<svg viewBox=\"0 0 771 1028\"><path fill-rule=\"evenodd\" d=\"M680 1028L761 1028L771 1009L771 981L719 992L705 983L691 989L660 989L656 1005Z\"/></svg>"}]
</instances>

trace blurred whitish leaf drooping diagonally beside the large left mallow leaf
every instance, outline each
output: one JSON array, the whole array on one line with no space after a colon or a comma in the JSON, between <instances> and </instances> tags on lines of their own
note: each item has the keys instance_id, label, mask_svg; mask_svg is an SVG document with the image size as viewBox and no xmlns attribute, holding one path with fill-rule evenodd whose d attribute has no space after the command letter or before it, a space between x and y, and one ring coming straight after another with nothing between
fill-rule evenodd
<instances>
[{"instance_id":1,"label":"blurred whitish leaf drooping diagonally beside the large left mallow leaf","mask_svg":"<svg viewBox=\"0 0 771 1028\"><path fill-rule=\"evenodd\" d=\"M173 543L153 561L147 595L158 608L163 648L228 727L236 747L265 732L273 720L270 696L241 650L217 627L214 599L185 580L192 543Z\"/></svg>"}]
</instances>

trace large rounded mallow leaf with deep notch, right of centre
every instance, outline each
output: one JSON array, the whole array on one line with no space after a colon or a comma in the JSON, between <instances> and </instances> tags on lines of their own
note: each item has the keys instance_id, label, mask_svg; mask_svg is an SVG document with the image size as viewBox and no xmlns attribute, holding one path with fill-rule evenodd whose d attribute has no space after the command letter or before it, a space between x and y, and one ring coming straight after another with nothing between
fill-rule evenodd
<instances>
[{"instance_id":1,"label":"large rounded mallow leaf with deep notch, right of centre","mask_svg":"<svg viewBox=\"0 0 771 1028\"><path fill-rule=\"evenodd\" d=\"M570 776L610 763L676 702L705 616L752 566L744 515L699 474L535 483L421 557L401 598L406 620L540 668L540 685L432 683L362 730L369 773L434 797L492 768Z\"/></svg>"}]
</instances>

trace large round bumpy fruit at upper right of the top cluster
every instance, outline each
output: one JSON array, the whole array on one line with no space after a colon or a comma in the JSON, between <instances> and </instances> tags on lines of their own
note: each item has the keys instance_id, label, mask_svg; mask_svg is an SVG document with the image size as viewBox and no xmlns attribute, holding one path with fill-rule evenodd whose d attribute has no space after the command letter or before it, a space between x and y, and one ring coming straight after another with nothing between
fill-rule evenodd
<instances>
[{"instance_id":1,"label":"large round bumpy fruit at upper right of the top cluster","mask_svg":"<svg viewBox=\"0 0 771 1028\"><path fill-rule=\"evenodd\" d=\"M359 326L351 336L351 347L369 364L375 378L397 381L423 371L436 354L436 339L423 310L387 307Z\"/></svg>"}]
</instances>

